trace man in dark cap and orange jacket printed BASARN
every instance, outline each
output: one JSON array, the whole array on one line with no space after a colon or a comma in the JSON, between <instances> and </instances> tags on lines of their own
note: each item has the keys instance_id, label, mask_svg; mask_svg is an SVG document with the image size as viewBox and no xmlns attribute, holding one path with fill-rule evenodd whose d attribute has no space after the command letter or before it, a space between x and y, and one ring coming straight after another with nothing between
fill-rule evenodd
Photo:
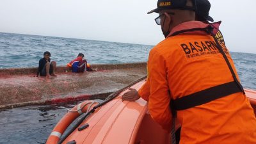
<instances>
[{"instance_id":1,"label":"man in dark cap and orange jacket printed BASARN","mask_svg":"<svg viewBox=\"0 0 256 144\"><path fill-rule=\"evenodd\" d=\"M256 143L256 118L232 58L213 26L195 21L195 2L159 0L148 12L159 13L166 37L148 57L150 115L168 132L177 117L180 143Z\"/></svg>"}]
</instances>

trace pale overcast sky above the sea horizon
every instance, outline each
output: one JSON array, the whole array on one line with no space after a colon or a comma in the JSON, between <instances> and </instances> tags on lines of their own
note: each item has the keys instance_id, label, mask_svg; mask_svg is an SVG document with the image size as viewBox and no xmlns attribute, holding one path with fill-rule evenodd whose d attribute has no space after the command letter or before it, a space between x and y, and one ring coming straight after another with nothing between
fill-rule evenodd
<instances>
[{"instance_id":1,"label":"pale overcast sky above the sea horizon","mask_svg":"<svg viewBox=\"0 0 256 144\"><path fill-rule=\"evenodd\" d=\"M254 0L209 0L230 51L256 53ZM156 45L152 0L0 0L0 32Z\"/></svg>"}]
</instances>

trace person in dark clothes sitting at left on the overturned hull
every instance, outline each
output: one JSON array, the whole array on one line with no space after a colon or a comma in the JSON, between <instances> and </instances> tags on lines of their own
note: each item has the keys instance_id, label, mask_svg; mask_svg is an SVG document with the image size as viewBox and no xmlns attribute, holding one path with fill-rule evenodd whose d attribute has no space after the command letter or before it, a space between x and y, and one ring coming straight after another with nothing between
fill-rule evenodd
<instances>
[{"instance_id":1,"label":"person in dark clothes sitting at left on the overturned hull","mask_svg":"<svg viewBox=\"0 0 256 144\"><path fill-rule=\"evenodd\" d=\"M51 61L51 53L49 51L44 52L44 58L39 60L39 66L36 76L56 76L56 61Z\"/></svg>"}]
</instances>

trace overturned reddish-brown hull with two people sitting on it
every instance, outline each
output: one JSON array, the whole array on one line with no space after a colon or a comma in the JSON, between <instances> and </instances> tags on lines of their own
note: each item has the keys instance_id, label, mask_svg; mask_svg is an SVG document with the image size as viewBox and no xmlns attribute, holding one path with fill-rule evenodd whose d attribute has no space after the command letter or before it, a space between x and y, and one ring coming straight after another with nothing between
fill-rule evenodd
<instances>
[{"instance_id":1,"label":"overturned reddish-brown hull with two people sitting on it","mask_svg":"<svg viewBox=\"0 0 256 144\"><path fill-rule=\"evenodd\" d=\"M146 63L92 65L97 72L75 74L57 67L57 77L35 77L36 68L0 69L0 108L104 99L147 74Z\"/></svg>"}]
</instances>

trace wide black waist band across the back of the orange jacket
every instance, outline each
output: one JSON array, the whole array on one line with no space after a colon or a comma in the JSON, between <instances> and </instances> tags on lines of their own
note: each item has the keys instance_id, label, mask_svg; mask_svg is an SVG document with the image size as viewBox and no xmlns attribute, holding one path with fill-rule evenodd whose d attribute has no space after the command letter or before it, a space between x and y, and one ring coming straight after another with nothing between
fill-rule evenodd
<instances>
[{"instance_id":1,"label":"wide black waist band across the back of the orange jacket","mask_svg":"<svg viewBox=\"0 0 256 144\"><path fill-rule=\"evenodd\" d=\"M237 87L236 82L232 81L230 83L220 84L218 86L207 88L200 92L192 93L190 95L186 95L185 97L172 100L170 104L175 110L183 110L200 106L207 102L211 102L212 100L237 92L241 92L241 90Z\"/></svg>"}]
</instances>

